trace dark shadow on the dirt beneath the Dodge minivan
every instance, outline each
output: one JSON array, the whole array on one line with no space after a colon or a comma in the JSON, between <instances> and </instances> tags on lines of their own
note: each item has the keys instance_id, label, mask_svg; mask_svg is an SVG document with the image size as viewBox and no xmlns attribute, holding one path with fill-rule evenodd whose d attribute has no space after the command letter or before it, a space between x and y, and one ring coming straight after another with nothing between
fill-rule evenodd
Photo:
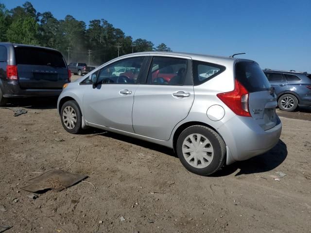
<instances>
[{"instance_id":1,"label":"dark shadow on the dirt beneath the Dodge minivan","mask_svg":"<svg viewBox=\"0 0 311 233\"><path fill-rule=\"evenodd\" d=\"M3 107L19 107L26 109L56 109L58 97L11 98Z\"/></svg>"}]
</instances>

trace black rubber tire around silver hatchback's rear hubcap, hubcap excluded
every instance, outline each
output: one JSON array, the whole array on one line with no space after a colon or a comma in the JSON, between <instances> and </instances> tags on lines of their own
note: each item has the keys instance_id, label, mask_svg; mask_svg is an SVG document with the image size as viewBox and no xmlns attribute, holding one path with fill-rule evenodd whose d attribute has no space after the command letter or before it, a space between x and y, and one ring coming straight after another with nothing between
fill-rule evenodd
<instances>
[{"instance_id":1,"label":"black rubber tire around silver hatchback's rear hubcap, hubcap excluded","mask_svg":"<svg viewBox=\"0 0 311 233\"><path fill-rule=\"evenodd\" d=\"M182 148L183 148L183 142L184 140L190 135L190 134L195 134L199 133L205 136L210 144L213 147L214 150L214 157L210 164L204 168L197 168L194 166L191 166L185 159ZM202 126L202 125L194 125L190 126L187 129L185 129L180 135L178 136L177 144L176 144L176 151L178 158L180 162L189 170L190 172L193 172L195 174L201 175L201 176L207 176L210 175L219 168L221 168L224 163L225 163L225 142L221 138L221 136L213 131L212 129Z\"/></svg>"}]
</instances>

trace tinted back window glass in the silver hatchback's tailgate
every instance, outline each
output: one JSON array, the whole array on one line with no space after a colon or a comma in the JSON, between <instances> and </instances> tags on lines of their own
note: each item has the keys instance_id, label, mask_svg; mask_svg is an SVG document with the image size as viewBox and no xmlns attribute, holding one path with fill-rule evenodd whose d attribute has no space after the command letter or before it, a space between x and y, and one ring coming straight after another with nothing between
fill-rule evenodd
<instances>
[{"instance_id":1,"label":"tinted back window glass in the silver hatchback's tailgate","mask_svg":"<svg viewBox=\"0 0 311 233\"><path fill-rule=\"evenodd\" d=\"M255 62L238 62L235 67L235 78L249 91L266 91L270 89L270 83Z\"/></svg>"}]
</instances>

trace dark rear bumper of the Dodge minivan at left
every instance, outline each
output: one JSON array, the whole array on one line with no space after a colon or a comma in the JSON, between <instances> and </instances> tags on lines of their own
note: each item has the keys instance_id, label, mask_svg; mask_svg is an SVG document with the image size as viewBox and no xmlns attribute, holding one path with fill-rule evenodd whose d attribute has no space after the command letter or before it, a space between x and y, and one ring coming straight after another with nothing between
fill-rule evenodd
<instances>
[{"instance_id":1,"label":"dark rear bumper of the Dodge minivan at left","mask_svg":"<svg viewBox=\"0 0 311 233\"><path fill-rule=\"evenodd\" d=\"M3 83L4 98L59 96L62 89L21 89L18 82Z\"/></svg>"}]
</instances>

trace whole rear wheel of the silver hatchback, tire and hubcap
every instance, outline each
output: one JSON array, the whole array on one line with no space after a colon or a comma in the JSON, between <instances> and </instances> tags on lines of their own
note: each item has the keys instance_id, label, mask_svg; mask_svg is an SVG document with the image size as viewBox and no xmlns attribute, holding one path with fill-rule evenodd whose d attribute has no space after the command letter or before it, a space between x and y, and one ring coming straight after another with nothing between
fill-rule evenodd
<instances>
[{"instance_id":1,"label":"whole rear wheel of the silver hatchback, tire and hubcap","mask_svg":"<svg viewBox=\"0 0 311 233\"><path fill-rule=\"evenodd\" d=\"M224 140L202 125L190 126L180 133L176 151L183 166L202 176L216 172L225 162Z\"/></svg>"}]
</instances>

